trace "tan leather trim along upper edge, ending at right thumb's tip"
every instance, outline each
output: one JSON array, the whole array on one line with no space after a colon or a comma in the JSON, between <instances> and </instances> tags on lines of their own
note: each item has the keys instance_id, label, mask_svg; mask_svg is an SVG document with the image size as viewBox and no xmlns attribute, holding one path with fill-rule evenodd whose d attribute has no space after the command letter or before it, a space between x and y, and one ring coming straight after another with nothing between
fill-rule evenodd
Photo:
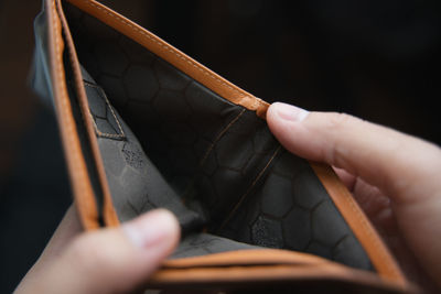
<instances>
[{"instance_id":1,"label":"tan leather trim along upper edge, ending at right thumb's tip","mask_svg":"<svg viewBox=\"0 0 441 294\"><path fill-rule=\"evenodd\" d=\"M259 117L265 118L266 108L268 107L267 102L213 73L146 29L94 0L67 1L147 47L220 97L249 110L254 110Z\"/></svg>"}]
</instances>

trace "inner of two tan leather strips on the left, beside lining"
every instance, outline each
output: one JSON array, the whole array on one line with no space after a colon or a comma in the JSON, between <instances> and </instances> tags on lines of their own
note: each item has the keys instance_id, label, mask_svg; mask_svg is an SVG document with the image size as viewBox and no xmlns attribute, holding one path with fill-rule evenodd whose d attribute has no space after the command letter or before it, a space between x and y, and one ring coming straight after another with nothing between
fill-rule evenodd
<instances>
[{"instance_id":1,"label":"inner of two tan leather strips on the left, beside lining","mask_svg":"<svg viewBox=\"0 0 441 294\"><path fill-rule=\"evenodd\" d=\"M75 79L75 89L76 89L77 97L78 97L79 108L83 113L83 121L85 122L88 141L89 141L93 157L95 161L95 166L96 166L97 173L98 173L99 184L103 189L103 196L104 196L103 218L104 218L106 226L115 227L115 226L119 225L119 220L118 220L117 214L116 214L114 205L112 205L110 189L109 189L109 185L107 183L106 172L105 172L104 164L103 164L101 153L99 151L98 141L97 141L96 134L95 134L94 121L93 121L93 119L90 117L90 112L89 112L89 105L88 105L87 95L86 95L86 90L85 90L84 83L83 83L82 72L79 68L78 56L76 54L76 50L75 50L74 41L72 39L71 30L68 28L66 18L63 12L62 2L60 0L55 0L55 1L57 4L57 8L58 8L58 17L60 17L60 20L61 20L61 23L63 26L64 37L66 40L66 47L69 53L71 65L72 65L74 79ZM94 199L92 199L92 200L95 202ZM95 221L97 222L97 219ZM97 225L98 225L98 222L97 222Z\"/></svg>"}]
</instances>

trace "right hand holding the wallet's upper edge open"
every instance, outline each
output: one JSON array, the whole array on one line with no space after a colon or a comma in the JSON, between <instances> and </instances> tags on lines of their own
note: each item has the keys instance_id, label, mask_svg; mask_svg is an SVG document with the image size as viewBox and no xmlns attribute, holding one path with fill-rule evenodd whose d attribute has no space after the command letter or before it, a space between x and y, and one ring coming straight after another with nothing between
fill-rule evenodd
<instances>
[{"instance_id":1,"label":"right hand holding the wallet's upper edge open","mask_svg":"<svg viewBox=\"0 0 441 294\"><path fill-rule=\"evenodd\" d=\"M409 279L428 291L441 286L439 146L348 115L286 104L273 104L267 121L287 150L336 167Z\"/></svg>"}]
</instances>

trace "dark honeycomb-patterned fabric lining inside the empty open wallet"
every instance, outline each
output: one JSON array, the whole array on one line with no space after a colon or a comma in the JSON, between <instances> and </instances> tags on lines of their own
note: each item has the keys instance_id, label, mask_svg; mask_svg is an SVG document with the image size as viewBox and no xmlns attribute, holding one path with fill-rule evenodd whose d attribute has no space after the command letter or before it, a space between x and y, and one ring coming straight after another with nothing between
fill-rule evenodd
<instances>
[{"instance_id":1,"label":"dark honeycomb-patterned fabric lining inside the empty open wallet","mask_svg":"<svg viewBox=\"0 0 441 294\"><path fill-rule=\"evenodd\" d=\"M121 221L173 211L184 231L175 258L278 248L373 270L309 163L265 120L76 8L66 12Z\"/></svg>"}]
</instances>

